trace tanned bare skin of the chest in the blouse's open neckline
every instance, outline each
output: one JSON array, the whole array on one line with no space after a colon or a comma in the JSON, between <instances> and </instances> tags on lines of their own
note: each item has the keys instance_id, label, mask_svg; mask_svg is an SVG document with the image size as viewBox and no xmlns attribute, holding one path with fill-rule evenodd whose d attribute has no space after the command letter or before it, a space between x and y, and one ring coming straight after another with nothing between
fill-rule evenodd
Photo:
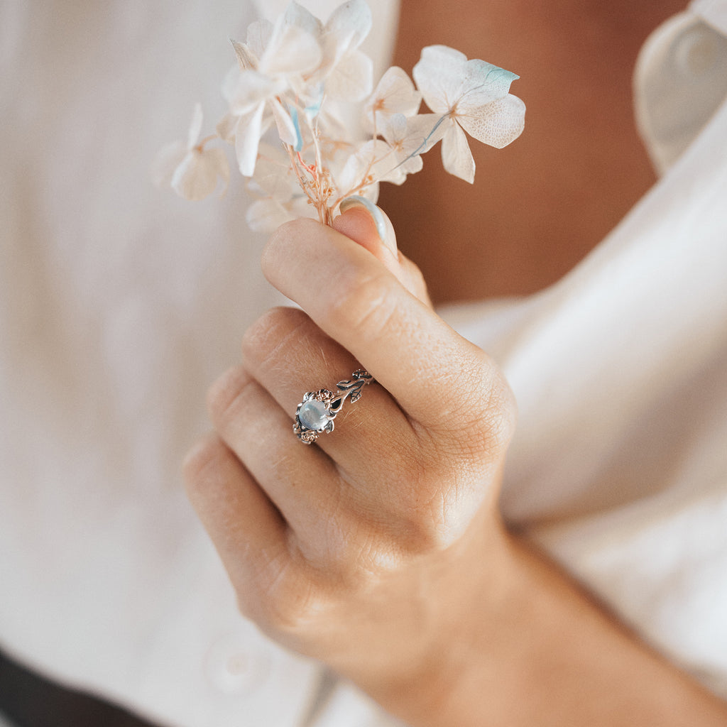
<instances>
[{"instance_id":1,"label":"tanned bare skin of the chest in the blouse's open neckline","mask_svg":"<svg viewBox=\"0 0 727 727\"><path fill-rule=\"evenodd\" d=\"M527 105L513 145L471 147L473 186L436 152L381 204L436 302L528 294L585 257L654 183L635 129L638 50L684 0L402 0L395 63L445 44L518 73ZM434 202L434 204L433 204ZM446 240L446 244L443 244Z\"/></svg>"}]
</instances>

